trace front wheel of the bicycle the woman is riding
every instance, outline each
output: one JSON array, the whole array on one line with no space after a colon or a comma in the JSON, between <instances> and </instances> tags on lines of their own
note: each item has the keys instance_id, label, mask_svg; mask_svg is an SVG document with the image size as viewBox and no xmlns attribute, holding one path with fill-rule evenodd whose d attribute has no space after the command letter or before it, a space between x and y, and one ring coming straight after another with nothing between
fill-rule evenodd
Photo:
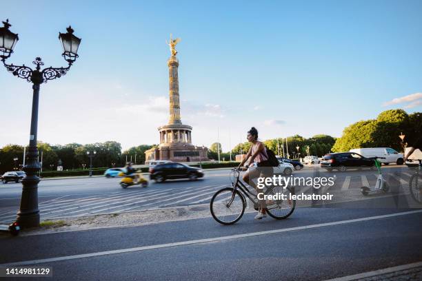
<instances>
[{"instance_id":1,"label":"front wheel of the bicycle the woman is riding","mask_svg":"<svg viewBox=\"0 0 422 281\"><path fill-rule=\"evenodd\" d=\"M210 202L212 218L223 225L232 225L243 216L245 212L245 198L239 190L232 187L220 189L214 194Z\"/></svg>"}]
</instances>

